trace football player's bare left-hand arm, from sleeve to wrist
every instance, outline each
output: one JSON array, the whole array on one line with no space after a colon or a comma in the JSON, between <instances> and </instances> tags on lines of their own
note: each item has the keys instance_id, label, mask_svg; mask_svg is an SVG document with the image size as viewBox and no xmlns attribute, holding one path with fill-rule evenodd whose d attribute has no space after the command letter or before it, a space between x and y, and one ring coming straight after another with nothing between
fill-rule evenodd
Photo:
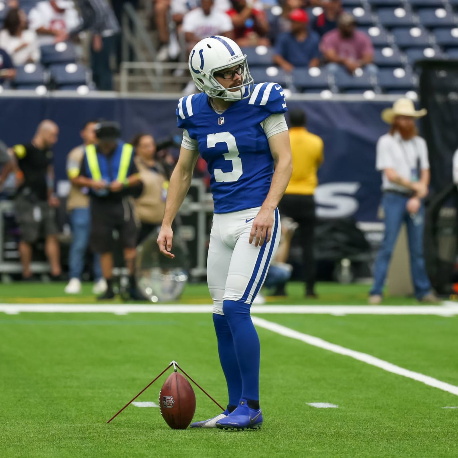
<instances>
[{"instance_id":1,"label":"football player's bare left-hand arm, from sleeve to wrist","mask_svg":"<svg viewBox=\"0 0 458 458\"><path fill-rule=\"evenodd\" d=\"M181 147L180 158L170 177L169 188L167 190L167 200L165 202L163 226L171 226L181 204L185 200L192 180L192 172L196 166L198 151L191 151Z\"/></svg>"}]
</instances>

